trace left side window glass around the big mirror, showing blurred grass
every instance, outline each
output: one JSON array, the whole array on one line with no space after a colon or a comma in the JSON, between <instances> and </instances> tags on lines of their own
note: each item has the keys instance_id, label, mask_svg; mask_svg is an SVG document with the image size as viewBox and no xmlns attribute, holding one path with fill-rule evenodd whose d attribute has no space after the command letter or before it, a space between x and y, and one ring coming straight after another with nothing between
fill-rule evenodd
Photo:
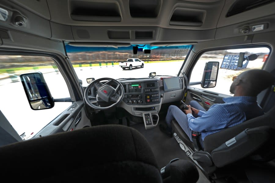
<instances>
[{"instance_id":1,"label":"left side window glass around the big mirror, showing blurred grass","mask_svg":"<svg viewBox=\"0 0 275 183\"><path fill-rule=\"evenodd\" d=\"M0 110L25 140L71 105L71 102L55 102L52 109L32 110L19 77L30 72L43 74L54 99L70 97L68 86L52 58L0 55Z\"/></svg>"}]
</instances>

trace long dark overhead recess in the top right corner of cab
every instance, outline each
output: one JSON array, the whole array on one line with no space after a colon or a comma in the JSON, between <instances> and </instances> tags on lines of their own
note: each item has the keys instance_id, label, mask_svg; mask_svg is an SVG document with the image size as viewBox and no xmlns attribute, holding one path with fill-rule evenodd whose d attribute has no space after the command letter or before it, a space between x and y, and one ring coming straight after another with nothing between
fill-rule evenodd
<instances>
[{"instance_id":1,"label":"long dark overhead recess in the top right corner of cab","mask_svg":"<svg viewBox=\"0 0 275 183\"><path fill-rule=\"evenodd\" d=\"M258 8L262 5L266 5L271 2L274 2L274 0L250 0L249 2L244 1L244 0L237 0L229 8L228 13L226 14L226 17L233 16L233 15L236 15L239 13L243 13L250 9Z\"/></svg>"}]
</instances>

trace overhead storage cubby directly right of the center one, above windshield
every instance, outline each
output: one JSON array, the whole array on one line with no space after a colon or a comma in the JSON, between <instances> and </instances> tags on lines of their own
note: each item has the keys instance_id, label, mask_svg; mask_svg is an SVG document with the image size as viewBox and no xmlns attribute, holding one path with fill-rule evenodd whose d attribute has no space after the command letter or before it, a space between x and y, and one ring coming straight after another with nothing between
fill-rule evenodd
<instances>
[{"instance_id":1,"label":"overhead storage cubby directly right of the center one, above windshield","mask_svg":"<svg viewBox=\"0 0 275 183\"><path fill-rule=\"evenodd\" d=\"M175 9L170 19L170 25L201 26L204 12L186 9Z\"/></svg>"}]
</instances>

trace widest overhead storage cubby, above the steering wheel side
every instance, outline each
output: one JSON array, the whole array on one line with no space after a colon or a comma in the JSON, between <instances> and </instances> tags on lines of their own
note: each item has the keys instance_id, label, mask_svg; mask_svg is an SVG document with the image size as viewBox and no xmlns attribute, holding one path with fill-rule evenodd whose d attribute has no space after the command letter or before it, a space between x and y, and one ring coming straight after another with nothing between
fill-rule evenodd
<instances>
[{"instance_id":1,"label":"widest overhead storage cubby, above the steering wheel side","mask_svg":"<svg viewBox=\"0 0 275 183\"><path fill-rule=\"evenodd\" d=\"M80 21L120 22L116 3L71 1L71 18Z\"/></svg>"}]
</instances>

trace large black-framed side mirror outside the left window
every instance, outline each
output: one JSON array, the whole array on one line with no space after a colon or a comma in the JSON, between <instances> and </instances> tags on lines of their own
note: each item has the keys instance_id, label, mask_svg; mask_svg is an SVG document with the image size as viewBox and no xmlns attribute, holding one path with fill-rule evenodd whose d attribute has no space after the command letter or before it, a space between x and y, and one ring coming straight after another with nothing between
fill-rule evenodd
<instances>
[{"instance_id":1,"label":"large black-framed side mirror outside the left window","mask_svg":"<svg viewBox=\"0 0 275 183\"><path fill-rule=\"evenodd\" d=\"M53 108L53 98L41 72L21 74L20 79L31 109Z\"/></svg>"}]
</instances>

